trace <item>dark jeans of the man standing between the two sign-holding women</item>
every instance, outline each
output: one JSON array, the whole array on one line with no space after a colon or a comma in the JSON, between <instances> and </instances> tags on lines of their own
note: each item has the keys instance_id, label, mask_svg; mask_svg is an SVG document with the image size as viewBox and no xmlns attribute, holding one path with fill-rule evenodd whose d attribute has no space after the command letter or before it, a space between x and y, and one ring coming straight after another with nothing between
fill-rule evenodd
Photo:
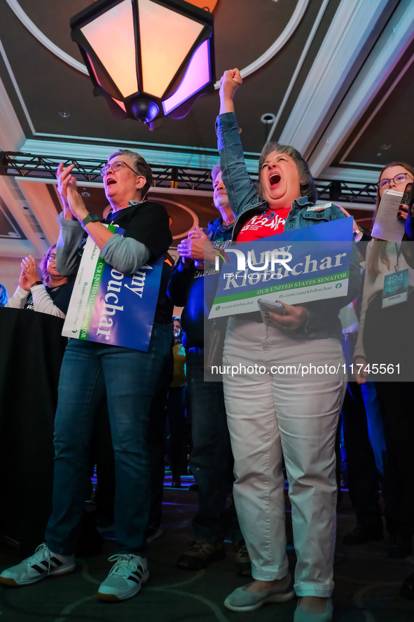
<instances>
[{"instance_id":1,"label":"dark jeans of the man standing between the two sign-holding women","mask_svg":"<svg viewBox=\"0 0 414 622\"><path fill-rule=\"evenodd\" d=\"M191 407L191 473L198 484L198 512L193 518L196 540L223 539L230 527L233 541L242 538L237 516L227 524L223 512L233 483L233 454L230 448L223 383L205 382L204 351L186 352L187 394Z\"/></svg>"}]
</instances>

